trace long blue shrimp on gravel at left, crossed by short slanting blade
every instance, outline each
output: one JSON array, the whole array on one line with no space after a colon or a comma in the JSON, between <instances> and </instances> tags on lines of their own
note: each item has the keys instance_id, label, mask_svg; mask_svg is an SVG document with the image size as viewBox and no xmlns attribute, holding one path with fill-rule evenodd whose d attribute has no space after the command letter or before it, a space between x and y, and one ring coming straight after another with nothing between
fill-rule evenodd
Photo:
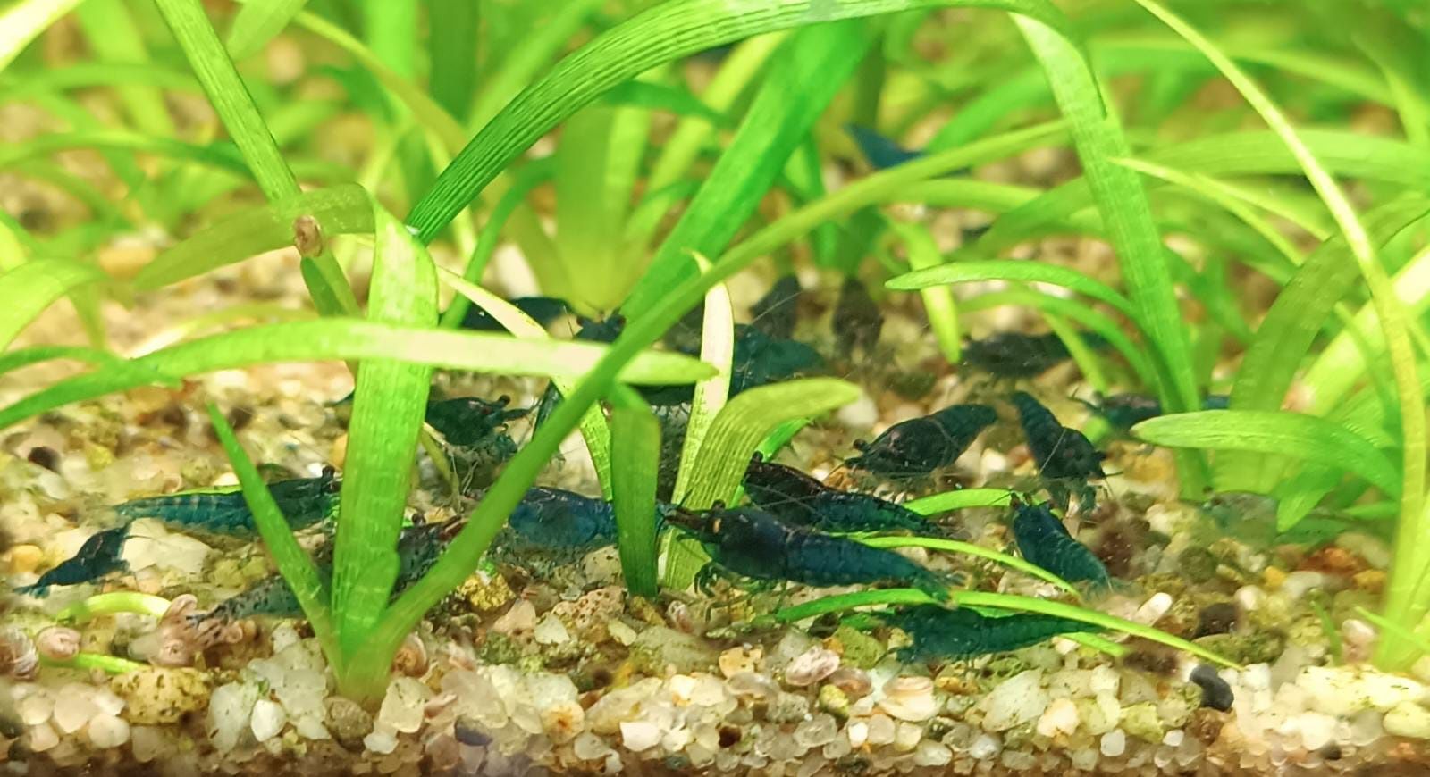
<instances>
[{"instance_id":1,"label":"long blue shrimp on gravel at left, crossed by short slanting blade","mask_svg":"<svg viewBox=\"0 0 1430 777\"><path fill-rule=\"evenodd\" d=\"M297 528L329 517L337 507L342 483L332 467L323 467L319 477L283 480L269 486L287 524ZM136 498L114 507L126 518L159 518L172 526L197 528L214 534L253 536L257 526L242 490L192 491Z\"/></svg>"}]
</instances>

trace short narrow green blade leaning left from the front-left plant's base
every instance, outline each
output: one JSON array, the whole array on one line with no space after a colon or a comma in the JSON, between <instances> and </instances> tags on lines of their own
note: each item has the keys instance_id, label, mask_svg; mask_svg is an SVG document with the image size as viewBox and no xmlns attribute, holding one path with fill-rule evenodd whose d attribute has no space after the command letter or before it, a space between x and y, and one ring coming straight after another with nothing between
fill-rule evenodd
<instances>
[{"instance_id":1,"label":"short narrow green blade leaning left from the front-left plant's base","mask_svg":"<svg viewBox=\"0 0 1430 777\"><path fill-rule=\"evenodd\" d=\"M257 527L259 536L263 537L263 547L273 557L273 564L277 566L283 581L292 588L299 607L303 608L303 616L323 646L329 666L340 673L342 653L337 650L337 633L327 608L327 586L323 584L323 578L317 574L313 560L307 557L307 551L293 537L293 530L289 528L283 511L273 500L273 494L269 493L263 476L259 474L257 467L239 444L233 427L213 404L209 404L209 421L219 437L219 444L223 446L223 453L227 454L229 463L233 466L233 474L239 477L239 484L243 487L243 501L253 513L253 524Z\"/></svg>"}]
</instances>

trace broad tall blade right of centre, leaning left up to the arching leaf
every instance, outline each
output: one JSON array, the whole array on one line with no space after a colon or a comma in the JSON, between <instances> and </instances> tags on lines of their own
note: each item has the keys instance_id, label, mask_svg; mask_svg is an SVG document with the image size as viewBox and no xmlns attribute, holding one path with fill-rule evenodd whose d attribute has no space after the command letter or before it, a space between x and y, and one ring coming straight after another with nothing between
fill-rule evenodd
<instances>
[{"instance_id":1,"label":"broad tall blade right of centre, leaning left up to the arching leaf","mask_svg":"<svg viewBox=\"0 0 1430 777\"><path fill-rule=\"evenodd\" d=\"M1072 141L1108 240L1117 251L1140 329L1151 340L1160 377L1157 393L1168 410L1197 406L1197 377L1191 346L1181 321L1171 270L1163 257L1161 236L1153 223L1151 204L1141 180L1113 160L1130 156L1117 117L1110 113L1097 79L1078 51L1054 30L1030 20L1015 20L1034 56L1042 63L1052 96L1068 119ZM1205 461L1200 456L1178 457L1178 474L1185 494L1200 494Z\"/></svg>"}]
</instances>

